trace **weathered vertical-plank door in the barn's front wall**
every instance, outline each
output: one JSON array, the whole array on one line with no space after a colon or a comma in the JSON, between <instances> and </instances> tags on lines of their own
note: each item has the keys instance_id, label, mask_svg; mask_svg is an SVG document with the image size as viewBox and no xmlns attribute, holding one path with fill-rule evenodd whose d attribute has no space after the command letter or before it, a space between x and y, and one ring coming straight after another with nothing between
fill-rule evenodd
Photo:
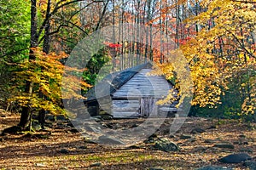
<instances>
[{"instance_id":1,"label":"weathered vertical-plank door in the barn's front wall","mask_svg":"<svg viewBox=\"0 0 256 170\"><path fill-rule=\"evenodd\" d=\"M140 99L141 116L157 116L157 99L142 98Z\"/></svg>"}]
</instances>

